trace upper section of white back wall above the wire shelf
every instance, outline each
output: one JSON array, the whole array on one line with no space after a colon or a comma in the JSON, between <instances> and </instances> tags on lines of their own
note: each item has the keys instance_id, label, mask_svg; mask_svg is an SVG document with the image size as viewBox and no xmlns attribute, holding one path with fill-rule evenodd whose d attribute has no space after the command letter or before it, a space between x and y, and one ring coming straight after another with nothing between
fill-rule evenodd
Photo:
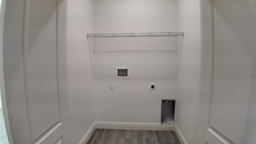
<instances>
[{"instance_id":1,"label":"upper section of white back wall above the wire shelf","mask_svg":"<svg viewBox=\"0 0 256 144\"><path fill-rule=\"evenodd\" d=\"M94 32L176 32L177 1L95 0Z\"/></svg>"}]
</instances>

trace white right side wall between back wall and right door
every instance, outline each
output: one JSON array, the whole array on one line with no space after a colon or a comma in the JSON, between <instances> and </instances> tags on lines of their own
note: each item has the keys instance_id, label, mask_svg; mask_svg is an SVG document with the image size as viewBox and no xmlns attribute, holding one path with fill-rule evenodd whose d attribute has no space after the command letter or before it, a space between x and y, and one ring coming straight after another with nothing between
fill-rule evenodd
<instances>
[{"instance_id":1,"label":"white right side wall between back wall and right door","mask_svg":"<svg viewBox=\"0 0 256 144\"><path fill-rule=\"evenodd\" d=\"M194 144L200 84L200 3L178 1L178 31L184 31L177 88L176 125Z\"/></svg>"}]
</instances>

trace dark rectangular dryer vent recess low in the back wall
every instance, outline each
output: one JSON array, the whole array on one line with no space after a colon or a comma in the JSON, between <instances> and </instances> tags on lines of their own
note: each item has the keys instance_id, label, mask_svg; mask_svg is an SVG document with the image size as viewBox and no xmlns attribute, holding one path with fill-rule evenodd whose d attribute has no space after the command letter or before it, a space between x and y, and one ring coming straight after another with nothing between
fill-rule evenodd
<instances>
[{"instance_id":1,"label":"dark rectangular dryer vent recess low in the back wall","mask_svg":"<svg viewBox=\"0 0 256 144\"><path fill-rule=\"evenodd\" d=\"M175 100L162 100L161 124L174 124Z\"/></svg>"}]
</instances>

